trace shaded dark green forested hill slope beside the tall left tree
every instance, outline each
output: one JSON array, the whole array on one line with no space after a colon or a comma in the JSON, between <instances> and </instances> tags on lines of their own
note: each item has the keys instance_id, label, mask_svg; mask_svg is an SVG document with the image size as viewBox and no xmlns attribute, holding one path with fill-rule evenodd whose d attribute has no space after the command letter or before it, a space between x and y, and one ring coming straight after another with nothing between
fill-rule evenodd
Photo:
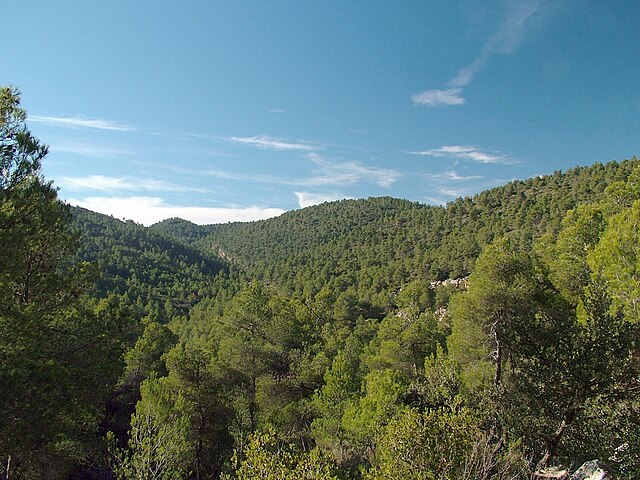
<instances>
[{"instance_id":1,"label":"shaded dark green forested hill slope beside the tall left tree","mask_svg":"<svg viewBox=\"0 0 640 480\"><path fill-rule=\"evenodd\" d=\"M72 214L81 235L77 256L100 272L99 296L122 295L147 312L171 317L214 294L228 273L217 255L134 222L77 207Z\"/></svg>"}]
</instances>

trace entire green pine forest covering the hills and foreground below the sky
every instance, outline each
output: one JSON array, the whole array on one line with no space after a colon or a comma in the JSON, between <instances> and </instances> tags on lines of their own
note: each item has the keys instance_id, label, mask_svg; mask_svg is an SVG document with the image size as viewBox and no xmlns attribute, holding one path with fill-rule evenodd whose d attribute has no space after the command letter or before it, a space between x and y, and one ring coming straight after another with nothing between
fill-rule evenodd
<instances>
[{"instance_id":1,"label":"entire green pine forest covering the hills and foreground below the sky","mask_svg":"<svg viewBox=\"0 0 640 480\"><path fill-rule=\"evenodd\" d=\"M0 478L640 477L635 157L147 228L58 199L13 88L0 152Z\"/></svg>"}]
</instances>

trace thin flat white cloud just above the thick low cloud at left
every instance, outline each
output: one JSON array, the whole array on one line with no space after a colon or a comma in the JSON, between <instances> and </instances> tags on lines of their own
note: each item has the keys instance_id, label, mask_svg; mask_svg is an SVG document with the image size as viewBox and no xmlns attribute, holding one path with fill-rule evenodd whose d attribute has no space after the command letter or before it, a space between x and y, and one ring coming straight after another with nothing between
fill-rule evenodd
<instances>
[{"instance_id":1,"label":"thin flat white cloud just above the thick low cloud at left","mask_svg":"<svg viewBox=\"0 0 640 480\"><path fill-rule=\"evenodd\" d=\"M104 175L87 175L84 177L62 177L57 183L69 190L97 190L102 192L117 191L158 191L158 192L200 192L208 190L198 187L186 187L162 180L127 179L126 177L108 177Z\"/></svg>"}]
</instances>

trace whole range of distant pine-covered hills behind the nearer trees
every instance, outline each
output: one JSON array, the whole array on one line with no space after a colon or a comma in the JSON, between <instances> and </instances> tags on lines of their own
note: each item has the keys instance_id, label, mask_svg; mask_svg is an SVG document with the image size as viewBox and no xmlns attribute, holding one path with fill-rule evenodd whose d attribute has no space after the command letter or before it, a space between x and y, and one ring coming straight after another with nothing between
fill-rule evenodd
<instances>
[{"instance_id":1,"label":"whole range of distant pine-covered hills behind the nearer trees","mask_svg":"<svg viewBox=\"0 0 640 480\"><path fill-rule=\"evenodd\" d=\"M555 234L568 210L596 201L639 163L634 157L557 171L446 206L341 200L248 223L199 226L173 218L147 228L74 208L83 237L78 255L103 272L100 295L126 295L161 316L176 313L170 308L186 314L199 299L227 289L230 273L301 297L348 289L385 308L415 279L468 275L496 238L510 235L529 248L535 238Z\"/></svg>"}]
</instances>

